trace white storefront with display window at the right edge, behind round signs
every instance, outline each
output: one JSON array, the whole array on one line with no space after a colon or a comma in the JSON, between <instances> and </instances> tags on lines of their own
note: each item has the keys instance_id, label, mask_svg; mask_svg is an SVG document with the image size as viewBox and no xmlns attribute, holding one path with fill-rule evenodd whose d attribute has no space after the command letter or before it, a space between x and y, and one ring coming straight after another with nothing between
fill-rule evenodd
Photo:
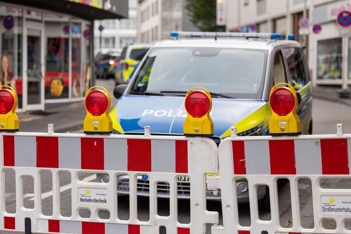
<instances>
[{"instance_id":1,"label":"white storefront with display window at the right edge, behind round signs","mask_svg":"<svg viewBox=\"0 0 351 234\"><path fill-rule=\"evenodd\" d=\"M310 53L313 56L313 81L316 85L351 84L351 27L342 29L336 22L341 11L351 11L351 0L334 1L313 9L312 23L322 30L313 34Z\"/></svg>"}]
</instances>

